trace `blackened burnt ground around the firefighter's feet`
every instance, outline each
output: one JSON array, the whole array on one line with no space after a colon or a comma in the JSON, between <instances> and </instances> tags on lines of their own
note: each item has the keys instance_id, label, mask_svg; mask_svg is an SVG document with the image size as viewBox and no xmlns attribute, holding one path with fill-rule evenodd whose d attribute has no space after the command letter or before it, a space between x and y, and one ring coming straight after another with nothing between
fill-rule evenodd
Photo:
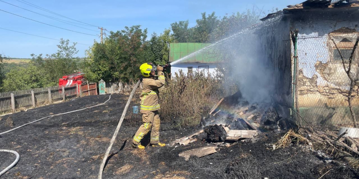
<instances>
[{"instance_id":1,"label":"blackened burnt ground around the firefighter's feet","mask_svg":"<svg viewBox=\"0 0 359 179\"><path fill-rule=\"evenodd\" d=\"M8 117L14 127L39 119L50 113L62 113L102 103L109 95L87 96L1 116L0 131ZM55 116L4 134L1 149L12 149L20 154L19 163L1 179L83 179L97 178L102 155L117 126L127 96L114 94L103 106ZM131 110L131 108L129 109ZM141 119L138 118L138 121ZM270 144L281 135L260 134L255 141L238 142L230 147L220 146L220 151L202 158L191 157L185 161L178 153L208 145L197 141L187 146L146 147L144 151L131 148L131 137L137 127L128 121L117 136L112 155L104 170L104 179L115 178L306 178L322 179L359 178L357 171L338 161L327 162L303 146L289 146L275 151ZM171 129L162 124L160 139L169 143L190 134L196 129ZM13 154L1 153L0 170L15 159Z\"/></svg>"}]
</instances>

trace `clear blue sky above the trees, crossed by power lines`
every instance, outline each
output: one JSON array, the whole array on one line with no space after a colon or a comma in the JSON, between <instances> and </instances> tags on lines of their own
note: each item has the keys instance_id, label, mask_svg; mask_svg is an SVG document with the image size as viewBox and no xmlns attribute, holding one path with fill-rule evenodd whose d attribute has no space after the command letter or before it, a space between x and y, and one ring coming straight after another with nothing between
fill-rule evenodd
<instances>
[{"instance_id":1,"label":"clear blue sky above the trees, crossed by power lines","mask_svg":"<svg viewBox=\"0 0 359 179\"><path fill-rule=\"evenodd\" d=\"M45 14L59 19L69 20L47 13L40 9L21 3L17 0L1 0L17 5L24 9ZM43 23L59 26L82 33L99 34L99 29L92 26L81 26L97 32L82 29L76 26L65 24L32 12L17 8L0 1L0 10L18 14L26 18L41 21ZM190 26L195 25L195 20L201 18L202 12L211 13L215 11L217 16L243 12L252 9L253 5L267 14L272 8L283 9L287 5L299 4L304 0L186 0L186 1L165 1L165 0L130 0L130 1L92 1L92 0L25 0L34 5L40 6L55 13L92 25L103 26L107 30L122 30L125 26L141 25L148 29L148 36L153 32L157 34L169 28L175 21L189 20ZM40 24L28 19L0 11L0 28L15 30L19 32L40 35L53 39L69 39L71 42L93 44L99 37L79 34L67 30ZM71 21L71 20L69 20ZM26 34L10 32L0 29L0 54L7 57L30 58L30 54L52 54L57 51L56 45L59 41L33 37ZM77 56L84 57L88 45L76 45L79 50Z\"/></svg>"}]
</instances>

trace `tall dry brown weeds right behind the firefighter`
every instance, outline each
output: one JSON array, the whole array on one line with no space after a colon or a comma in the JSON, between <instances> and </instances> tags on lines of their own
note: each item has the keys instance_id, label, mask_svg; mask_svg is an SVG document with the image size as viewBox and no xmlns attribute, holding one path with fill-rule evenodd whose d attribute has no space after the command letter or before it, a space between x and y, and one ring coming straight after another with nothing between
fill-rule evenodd
<instances>
[{"instance_id":1,"label":"tall dry brown weeds right behind the firefighter","mask_svg":"<svg viewBox=\"0 0 359 179\"><path fill-rule=\"evenodd\" d=\"M177 126L198 125L201 115L208 113L224 95L222 81L216 76L180 72L160 88L160 116L176 121Z\"/></svg>"}]
</instances>

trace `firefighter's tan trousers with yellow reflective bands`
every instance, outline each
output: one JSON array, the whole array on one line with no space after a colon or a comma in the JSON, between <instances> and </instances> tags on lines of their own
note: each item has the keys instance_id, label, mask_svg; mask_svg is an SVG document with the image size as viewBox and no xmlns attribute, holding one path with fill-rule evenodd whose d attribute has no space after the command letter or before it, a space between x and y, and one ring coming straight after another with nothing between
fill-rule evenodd
<instances>
[{"instance_id":1,"label":"firefighter's tan trousers with yellow reflective bands","mask_svg":"<svg viewBox=\"0 0 359 179\"><path fill-rule=\"evenodd\" d=\"M143 124L137 130L132 142L135 145L141 144L141 139L151 130L151 144L159 143L159 115L158 111L153 111L149 113L142 114Z\"/></svg>"}]
</instances>

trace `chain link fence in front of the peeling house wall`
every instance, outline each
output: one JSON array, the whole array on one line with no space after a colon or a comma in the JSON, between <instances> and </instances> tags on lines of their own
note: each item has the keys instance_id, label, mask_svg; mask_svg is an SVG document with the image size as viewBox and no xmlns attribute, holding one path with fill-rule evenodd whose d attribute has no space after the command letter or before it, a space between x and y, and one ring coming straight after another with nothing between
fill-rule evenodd
<instances>
[{"instance_id":1,"label":"chain link fence in front of the peeling house wall","mask_svg":"<svg viewBox=\"0 0 359 179\"><path fill-rule=\"evenodd\" d=\"M301 125L356 125L353 117L359 117L359 50L353 49L357 37L358 33L332 33L319 38L298 35L294 48L295 107Z\"/></svg>"}]
</instances>

